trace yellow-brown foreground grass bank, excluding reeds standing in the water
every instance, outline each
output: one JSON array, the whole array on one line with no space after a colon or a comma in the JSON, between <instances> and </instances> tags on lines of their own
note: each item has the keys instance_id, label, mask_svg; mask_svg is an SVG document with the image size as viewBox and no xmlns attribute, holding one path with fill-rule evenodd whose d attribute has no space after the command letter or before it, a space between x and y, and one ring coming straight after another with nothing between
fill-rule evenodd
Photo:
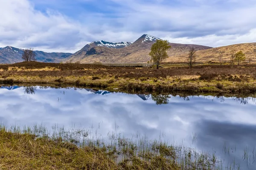
<instances>
[{"instance_id":1,"label":"yellow-brown foreground grass bank, excluding reeds standing in the water","mask_svg":"<svg viewBox=\"0 0 256 170\"><path fill-rule=\"evenodd\" d=\"M61 138L0 130L1 170L180 170L168 147L158 150L160 155L148 153L148 161L130 152L129 159L117 163L111 158L115 149L107 152L105 147L78 147Z\"/></svg>"}]
</instances>

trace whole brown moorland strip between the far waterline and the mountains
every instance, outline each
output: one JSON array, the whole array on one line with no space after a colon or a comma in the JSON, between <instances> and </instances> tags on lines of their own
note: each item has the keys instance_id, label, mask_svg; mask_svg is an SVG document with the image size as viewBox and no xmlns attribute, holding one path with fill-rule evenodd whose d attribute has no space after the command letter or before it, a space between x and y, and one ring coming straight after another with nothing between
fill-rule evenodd
<instances>
[{"instance_id":1,"label":"whole brown moorland strip between the far waterline and the mountains","mask_svg":"<svg viewBox=\"0 0 256 170\"><path fill-rule=\"evenodd\" d=\"M163 64L163 68L110 67L78 63L23 62L0 65L1 84L58 84L128 92L256 92L255 65Z\"/></svg>"}]
</instances>

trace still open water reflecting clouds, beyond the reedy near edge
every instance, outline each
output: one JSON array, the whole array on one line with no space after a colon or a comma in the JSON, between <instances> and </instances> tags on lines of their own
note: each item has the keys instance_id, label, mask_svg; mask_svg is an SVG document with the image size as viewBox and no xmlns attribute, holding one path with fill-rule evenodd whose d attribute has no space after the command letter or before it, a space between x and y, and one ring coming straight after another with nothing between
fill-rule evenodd
<instances>
[{"instance_id":1,"label":"still open water reflecting clouds, beyond the reedy near edge","mask_svg":"<svg viewBox=\"0 0 256 170\"><path fill-rule=\"evenodd\" d=\"M2 86L0 101L0 122L7 127L75 124L100 127L102 136L113 131L127 138L161 136L172 144L213 152L226 164L236 161L240 169L256 169L256 98Z\"/></svg>"}]
</instances>

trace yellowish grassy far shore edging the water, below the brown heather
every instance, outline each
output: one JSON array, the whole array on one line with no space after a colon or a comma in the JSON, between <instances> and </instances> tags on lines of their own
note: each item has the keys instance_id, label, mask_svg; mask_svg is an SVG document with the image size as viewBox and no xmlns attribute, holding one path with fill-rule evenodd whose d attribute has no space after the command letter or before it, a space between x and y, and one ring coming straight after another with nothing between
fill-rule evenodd
<instances>
[{"instance_id":1,"label":"yellowish grassy far shore edging the water, below the brown heather","mask_svg":"<svg viewBox=\"0 0 256 170\"><path fill-rule=\"evenodd\" d=\"M99 77L96 77L99 78ZM172 93L172 92L193 92L193 93L255 93L256 81L249 82L233 82L233 81L203 81L178 80L174 82L166 82L162 79L136 80L136 79L107 79L100 78L93 80L93 77L45 77L38 76L11 76L8 78L0 78L0 84L48 84L52 86L77 86L77 87L96 87L106 90L119 89L127 92L143 92L143 93Z\"/></svg>"}]
</instances>

